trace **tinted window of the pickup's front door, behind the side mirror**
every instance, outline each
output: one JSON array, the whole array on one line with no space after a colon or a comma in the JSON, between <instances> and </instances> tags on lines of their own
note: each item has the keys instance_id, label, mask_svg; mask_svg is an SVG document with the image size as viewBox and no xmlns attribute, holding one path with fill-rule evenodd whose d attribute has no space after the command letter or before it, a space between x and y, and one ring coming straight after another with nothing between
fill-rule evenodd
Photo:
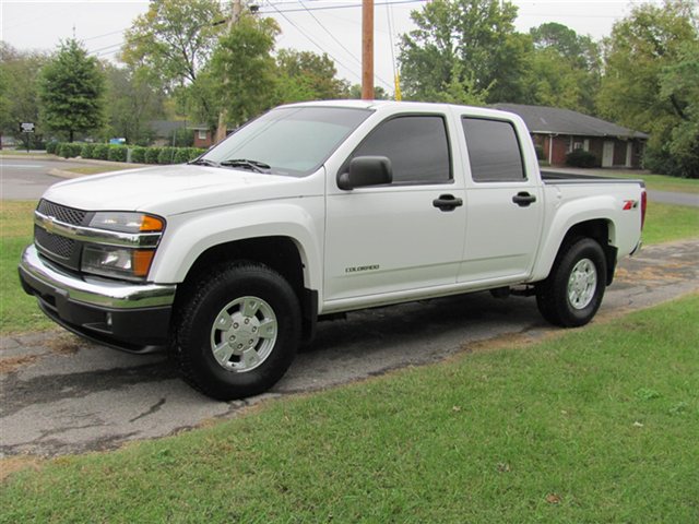
<instances>
[{"instance_id":1,"label":"tinted window of the pickup's front door, behind the side mirror","mask_svg":"<svg viewBox=\"0 0 699 524\"><path fill-rule=\"evenodd\" d=\"M391 160L394 183L451 180L449 141L441 117L398 117L380 123L352 156L374 155Z\"/></svg>"}]
</instances>

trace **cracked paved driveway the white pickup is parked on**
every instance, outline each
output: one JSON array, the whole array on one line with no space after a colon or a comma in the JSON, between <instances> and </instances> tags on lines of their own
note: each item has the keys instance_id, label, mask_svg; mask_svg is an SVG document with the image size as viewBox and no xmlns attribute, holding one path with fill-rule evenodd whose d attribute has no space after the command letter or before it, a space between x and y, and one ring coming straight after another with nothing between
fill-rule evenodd
<instances>
[{"instance_id":1,"label":"cracked paved driveway the white pickup is parked on","mask_svg":"<svg viewBox=\"0 0 699 524\"><path fill-rule=\"evenodd\" d=\"M645 248L626 259L597 321L699 290L699 240ZM533 298L489 294L351 313L321 323L269 395L216 402L183 384L163 356L132 356L60 331L2 338L0 456L58 455L116 448L206 420L235 416L269 396L315 391L467 352L507 335L536 340L554 331Z\"/></svg>"}]
</instances>

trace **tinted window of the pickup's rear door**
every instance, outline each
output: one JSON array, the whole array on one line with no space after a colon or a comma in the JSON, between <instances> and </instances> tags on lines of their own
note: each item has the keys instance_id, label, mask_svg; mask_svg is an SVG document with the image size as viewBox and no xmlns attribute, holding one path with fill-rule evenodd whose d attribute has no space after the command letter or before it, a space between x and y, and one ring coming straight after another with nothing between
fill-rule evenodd
<instances>
[{"instance_id":1,"label":"tinted window of the pickup's rear door","mask_svg":"<svg viewBox=\"0 0 699 524\"><path fill-rule=\"evenodd\" d=\"M462 118L471 174L476 182L524 180L520 144L510 122Z\"/></svg>"}]
</instances>

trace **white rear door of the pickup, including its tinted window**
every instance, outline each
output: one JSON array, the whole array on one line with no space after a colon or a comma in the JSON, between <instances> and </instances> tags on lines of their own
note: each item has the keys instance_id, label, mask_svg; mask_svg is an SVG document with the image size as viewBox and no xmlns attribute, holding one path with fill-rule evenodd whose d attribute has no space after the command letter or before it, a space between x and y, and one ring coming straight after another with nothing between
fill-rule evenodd
<instances>
[{"instance_id":1,"label":"white rear door of the pickup, including its tinted window","mask_svg":"<svg viewBox=\"0 0 699 524\"><path fill-rule=\"evenodd\" d=\"M540 177L526 172L511 121L462 115L461 127L471 177L466 177L466 241L458 279L503 284L521 279L532 270L541 237Z\"/></svg>"}]
</instances>

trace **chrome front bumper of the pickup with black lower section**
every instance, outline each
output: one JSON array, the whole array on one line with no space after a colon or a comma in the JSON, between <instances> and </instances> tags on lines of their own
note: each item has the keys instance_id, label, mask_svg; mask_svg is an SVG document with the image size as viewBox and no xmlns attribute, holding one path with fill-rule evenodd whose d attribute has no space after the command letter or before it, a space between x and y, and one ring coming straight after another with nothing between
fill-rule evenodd
<instances>
[{"instance_id":1,"label":"chrome front bumper of the pickup with black lower section","mask_svg":"<svg viewBox=\"0 0 699 524\"><path fill-rule=\"evenodd\" d=\"M177 286L80 277L42 258L35 246L22 254L20 281L42 310L63 327L132 353L165 346Z\"/></svg>"}]
</instances>

